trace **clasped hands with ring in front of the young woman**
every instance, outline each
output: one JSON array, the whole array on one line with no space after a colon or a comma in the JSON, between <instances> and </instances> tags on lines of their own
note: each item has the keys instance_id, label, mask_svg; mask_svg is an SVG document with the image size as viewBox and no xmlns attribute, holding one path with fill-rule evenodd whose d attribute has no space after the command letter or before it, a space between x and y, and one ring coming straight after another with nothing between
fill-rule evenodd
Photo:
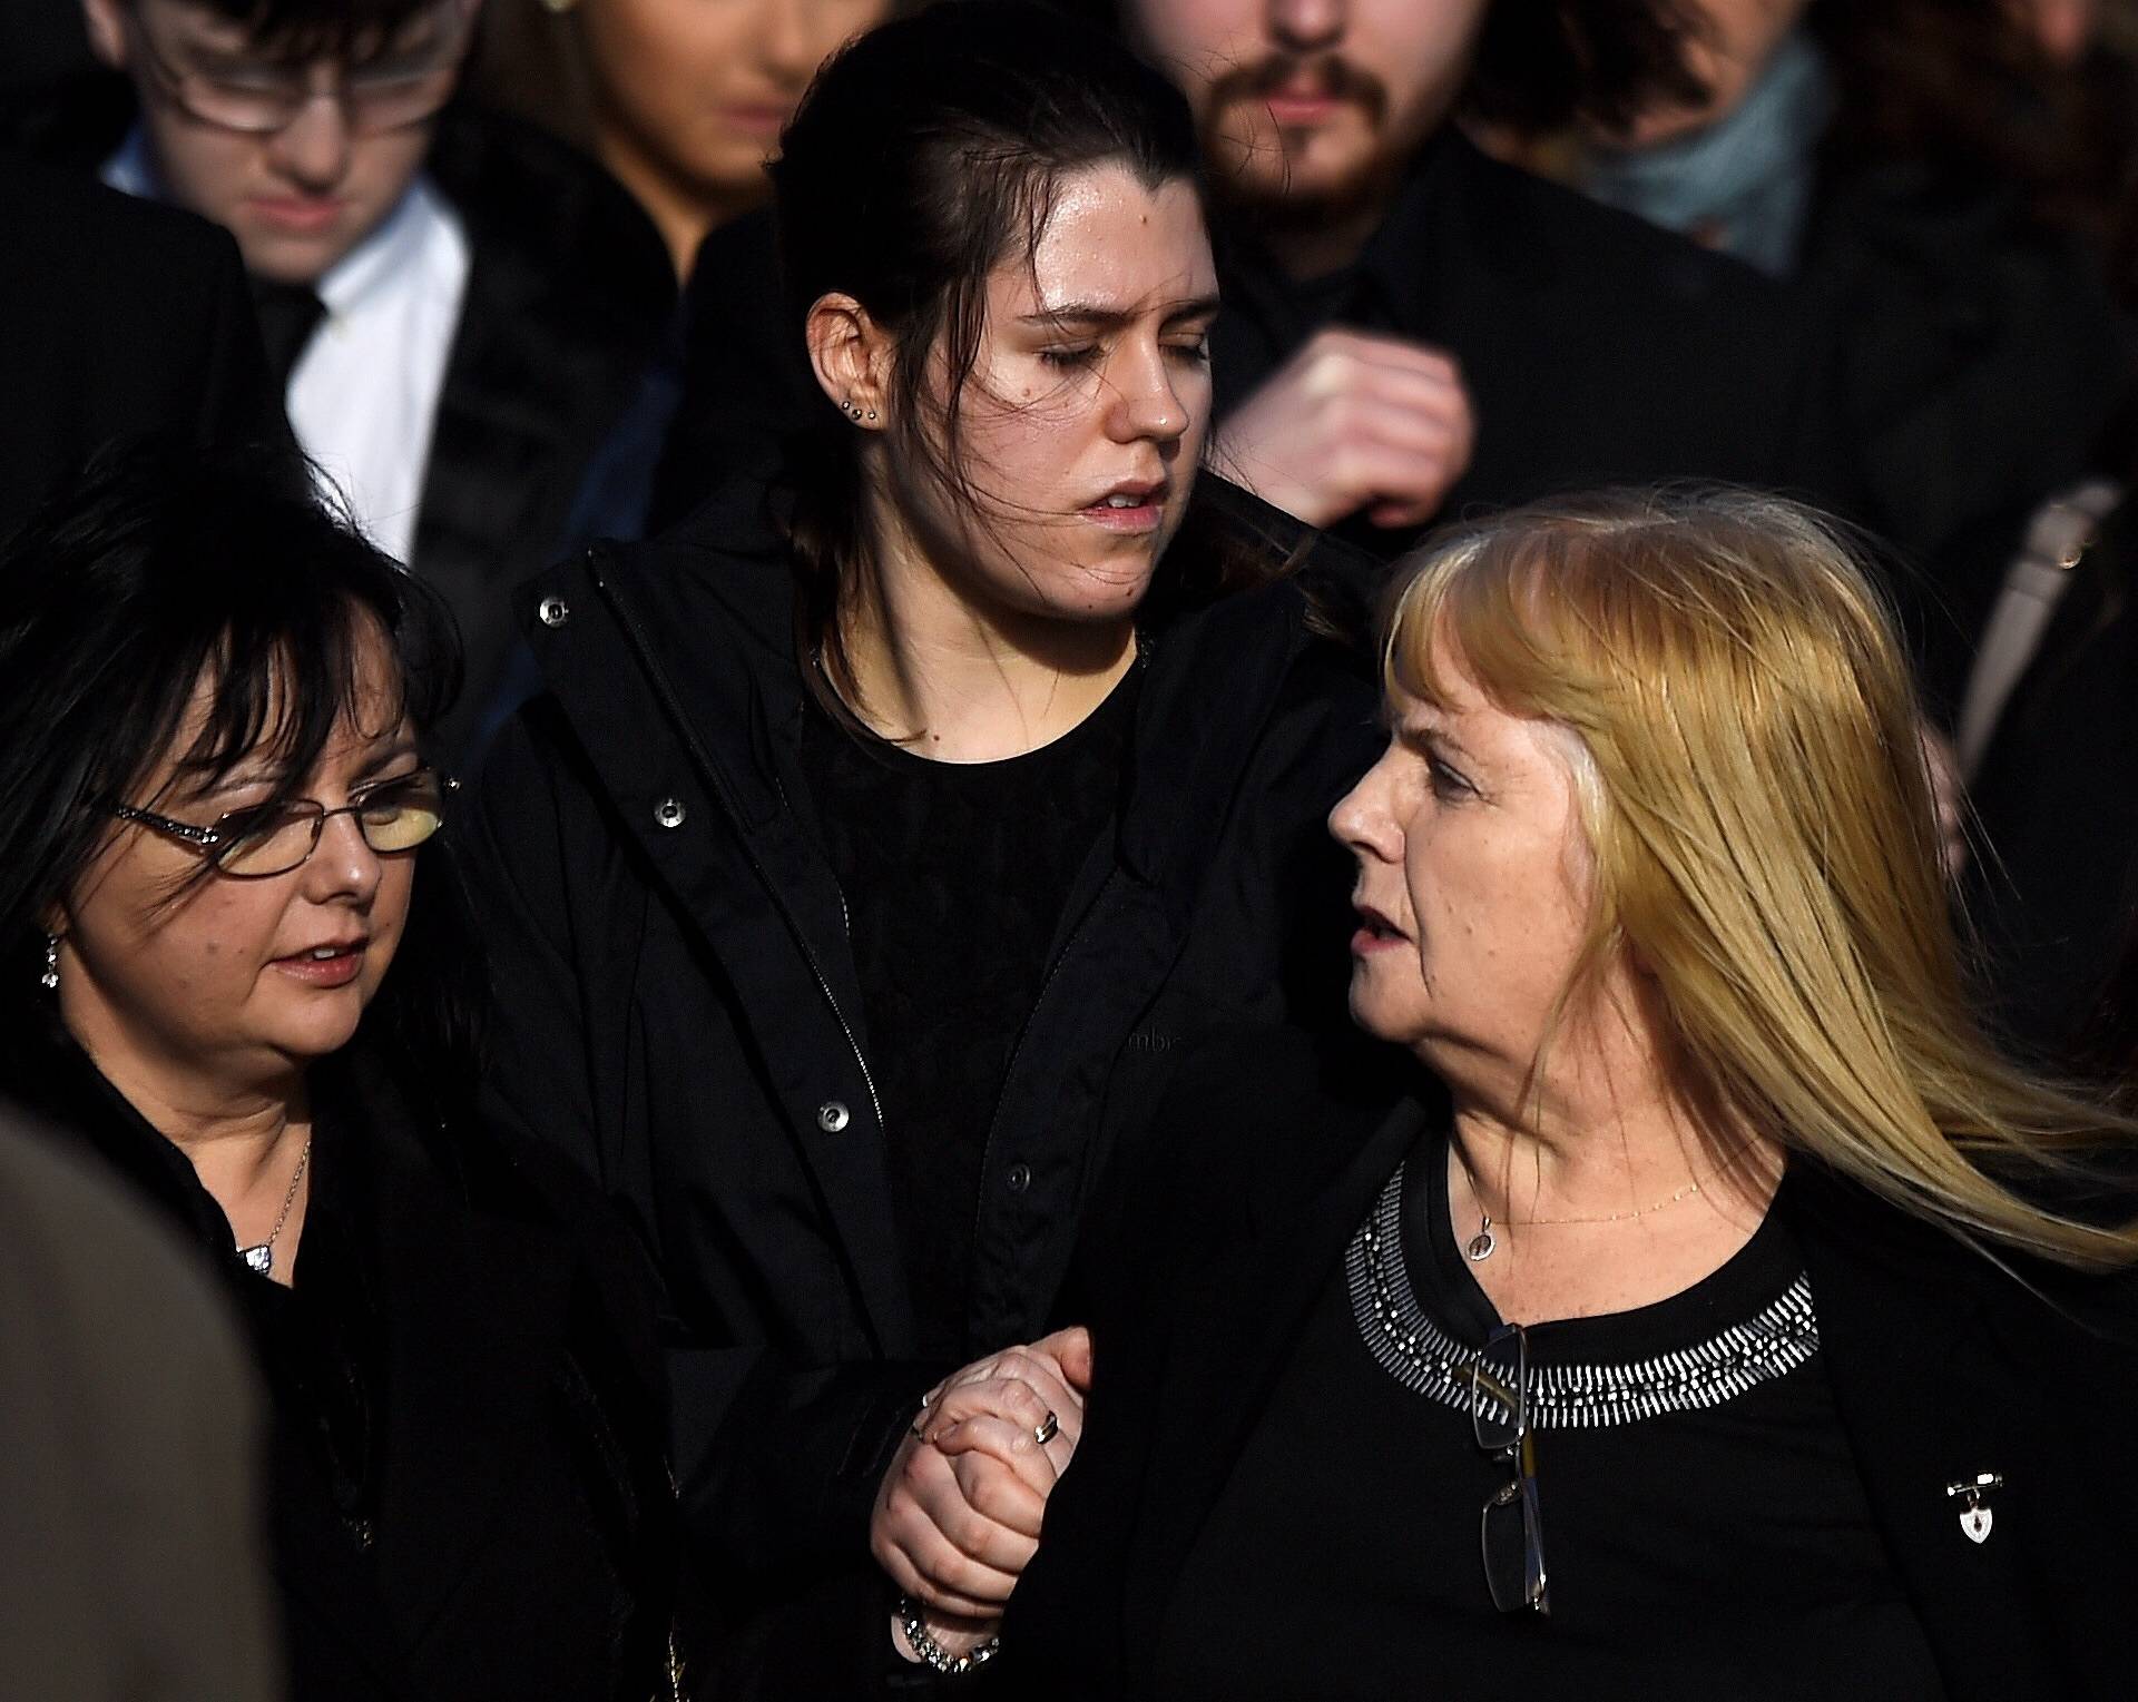
<instances>
[{"instance_id":1,"label":"clasped hands with ring in front of the young woman","mask_svg":"<svg viewBox=\"0 0 2138 1702\"><path fill-rule=\"evenodd\" d=\"M868 1546L924 1604L936 1642L975 1644L1001 1621L1039 1552L1048 1497L1084 1433L1088 1388L1090 1334L1058 1330L975 1360L930 1392L915 1435L883 1473ZM896 1627L894 1638L904 1651Z\"/></svg>"}]
</instances>

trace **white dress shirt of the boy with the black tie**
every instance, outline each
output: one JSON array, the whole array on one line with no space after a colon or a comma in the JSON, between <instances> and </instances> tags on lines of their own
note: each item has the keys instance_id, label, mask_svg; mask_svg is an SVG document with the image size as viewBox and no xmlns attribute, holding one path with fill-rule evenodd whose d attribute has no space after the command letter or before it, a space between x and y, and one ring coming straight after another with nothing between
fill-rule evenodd
<instances>
[{"instance_id":1,"label":"white dress shirt of the boy with the black tie","mask_svg":"<svg viewBox=\"0 0 2138 1702\"><path fill-rule=\"evenodd\" d=\"M141 133L105 182L165 199ZM428 177L316 284L325 319L289 374L289 423L363 535L400 562L415 547L445 366L468 291L468 233Z\"/></svg>"}]
</instances>

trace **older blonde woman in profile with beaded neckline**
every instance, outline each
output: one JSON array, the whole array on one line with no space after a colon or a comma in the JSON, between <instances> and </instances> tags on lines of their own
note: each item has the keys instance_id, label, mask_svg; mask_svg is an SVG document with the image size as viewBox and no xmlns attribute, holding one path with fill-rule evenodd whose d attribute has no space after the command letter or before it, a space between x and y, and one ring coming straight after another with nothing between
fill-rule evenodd
<instances>
[{"instance_id":1,"label":"older blonde woman in profile with beaded neckline","mask_svg":"<svg viewBox=\"0 0 2138 1702\"><path fill-rule=\"evenodd\" d=\"M1003 1676L2127 1696L2127 1129L1969 1020L1864 573L1783 502L1610 498L1390 607L1330 821L1353 1016L1424 1071L1191 1071L1086 1249Z\"/></svg>"}]
</instances>

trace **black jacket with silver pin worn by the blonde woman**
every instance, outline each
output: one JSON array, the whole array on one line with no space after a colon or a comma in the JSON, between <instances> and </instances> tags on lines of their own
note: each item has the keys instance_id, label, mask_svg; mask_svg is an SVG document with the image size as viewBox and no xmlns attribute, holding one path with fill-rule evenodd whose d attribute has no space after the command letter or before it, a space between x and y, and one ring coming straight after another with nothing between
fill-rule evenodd
<instances>
[{"instance_id":1,"label":"black jacket with silver pin worn by the blonde woman","mask_svg":"<svg viewBox=\"0 0 2138 1702\"><path fill-rule=\"evenodd\" d=\"M1140 1657L1172 1582L1428 1114L1341 1082L1298 1052L1219 1050L1167 1101L1169 1167L1110 1193L1118 1210L1078 1259L1097 1362L1086 1428L1009 1604L1001 1691L1148 1693ZM2138 1584L2123 1441L2138 1285L2029 1268L2033 1291L1802 1159L1775 1210L1802 1247L1834 1405L1946 1693L2129 1696L2114 1627ZM1129 1249L1142 1257L1125 1268ZM1330 1435L1341 1445L1341 1413ZM1982 1471L2003 1488L1976 1544L1946 1486Z\"/></svg>"}]
</instances>

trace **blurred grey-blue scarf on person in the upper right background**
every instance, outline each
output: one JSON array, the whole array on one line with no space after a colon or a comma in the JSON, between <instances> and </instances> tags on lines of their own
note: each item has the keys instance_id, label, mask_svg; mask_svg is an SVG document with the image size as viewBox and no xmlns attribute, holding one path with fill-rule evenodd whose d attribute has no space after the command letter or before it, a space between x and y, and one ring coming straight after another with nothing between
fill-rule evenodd
<instances>
[{"instance_id":1,"label":"blurred grey-blue scarf on person in the upper right background","mask_svg":"<svg viewBox=\"0 0 2138 1702\"><path fill-rule=\"evenodd\" d=\"M1657 148L1599 148L1582 188L1787 278L1811 212L1813 156L1832 111L1826 62L1796 32L1775 49L1736 111Z\"/></svg>"}]
</instances>

